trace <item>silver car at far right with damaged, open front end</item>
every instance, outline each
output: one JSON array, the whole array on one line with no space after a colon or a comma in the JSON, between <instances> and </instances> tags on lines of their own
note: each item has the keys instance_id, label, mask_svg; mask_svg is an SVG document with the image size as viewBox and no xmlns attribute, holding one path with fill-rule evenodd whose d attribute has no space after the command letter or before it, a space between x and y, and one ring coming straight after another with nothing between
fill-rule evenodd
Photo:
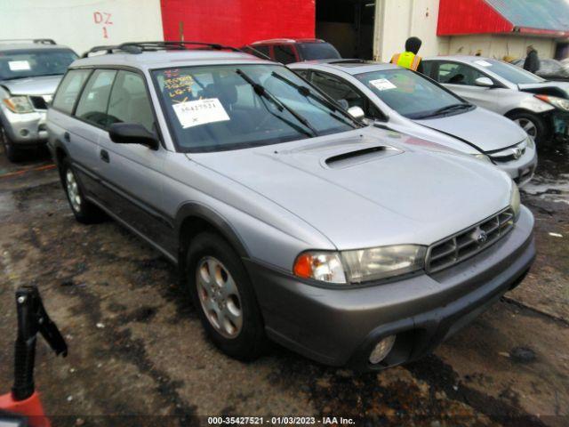
<instances>
[{"instance_id":1,"label":"silver car at far right with damaged, open front end","mask_svg":"<svg viewBox=\"0 0 569 427\"><path fill-rule=\"evenodd\" d=\"M549 82L502 60L438 56L423 60L424 74L462 98L514 120L535 141L569 132L569 83Z\"/></svg>"}]
</instances>

